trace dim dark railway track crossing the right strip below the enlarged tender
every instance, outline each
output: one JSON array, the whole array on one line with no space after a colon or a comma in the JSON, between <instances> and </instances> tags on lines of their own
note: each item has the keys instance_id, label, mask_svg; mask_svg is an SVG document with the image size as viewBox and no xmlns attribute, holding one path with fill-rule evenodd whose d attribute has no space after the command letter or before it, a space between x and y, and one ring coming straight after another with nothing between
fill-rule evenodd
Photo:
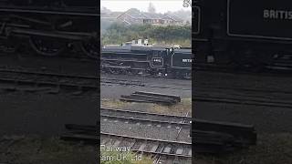
<instances>
[{"instance_id":1,"label":"dim dark railway track crossing the right strip below the enlarged tender","mask_svg":"<svg viewBox=\"0 0 292 164\"><path fill-rule=\"evenodd\" d=\"M251 106L292 108L292 92L283 88L271 87L231 87L228 85L195 86L194 101L241 104ZM289 88L289 87L287 87Z\"/></svg>"}]
</instances>

